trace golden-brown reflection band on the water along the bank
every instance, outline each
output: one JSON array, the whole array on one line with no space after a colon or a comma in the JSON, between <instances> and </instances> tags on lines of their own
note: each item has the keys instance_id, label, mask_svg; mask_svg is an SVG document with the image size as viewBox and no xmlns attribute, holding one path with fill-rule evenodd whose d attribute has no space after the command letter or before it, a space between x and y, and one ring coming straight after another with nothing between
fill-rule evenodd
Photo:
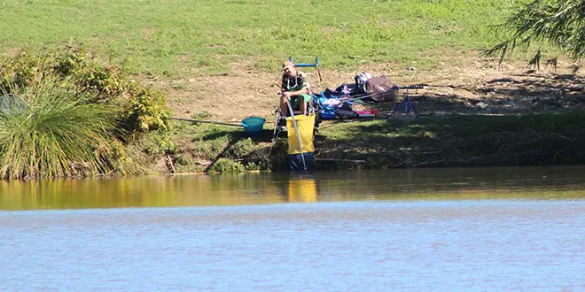
<instances>
[{"instance_id":1,"label":"golden-brown reflection band on the water along the bank","mask_svg":"<svg viewBox=\"0 0 585 292\"><path fill-rule=\"evenodd\" d=\"M585 167L248 173L1 181L0 209L84 209L347 200L583 197Z\"/></svg>"}]
</instances>

